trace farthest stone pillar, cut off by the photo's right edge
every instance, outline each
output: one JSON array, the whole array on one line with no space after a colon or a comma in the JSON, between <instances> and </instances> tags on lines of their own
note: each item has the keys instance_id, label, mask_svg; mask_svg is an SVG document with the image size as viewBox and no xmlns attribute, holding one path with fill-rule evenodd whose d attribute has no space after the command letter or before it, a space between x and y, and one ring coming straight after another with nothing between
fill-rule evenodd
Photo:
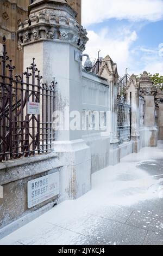
<instances>
[{"instance_id":1,"label":"farthest stone pillar, cut off by the photo's right edge","mask_svg":"<svg viewBox=\"0 0 163 256\"><path fill-rule=\"evenodd\" d=\"M159 126L158 126L158 139L163 140L163 92L158 89L156 95L156 103L159 105Z\"/></svg>"}]
</instances>

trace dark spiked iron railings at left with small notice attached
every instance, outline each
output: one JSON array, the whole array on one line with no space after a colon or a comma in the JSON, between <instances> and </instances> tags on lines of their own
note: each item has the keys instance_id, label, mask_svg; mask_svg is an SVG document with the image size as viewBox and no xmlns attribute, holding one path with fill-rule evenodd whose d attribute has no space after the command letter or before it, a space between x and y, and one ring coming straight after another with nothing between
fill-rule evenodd
<instances>
[{"instance_id":1,"label":"dark spiked iron railings at left with small notice attached","mask_svg":"<svg viewBox=\"0 0 163 256\"><path fill-rule=\"evenodd\" d=\"M22 76L14 75L5 39L0 63L0 162L51 151L55 79L41 84L34 58Z\"/></svg>"}]
</instances>

